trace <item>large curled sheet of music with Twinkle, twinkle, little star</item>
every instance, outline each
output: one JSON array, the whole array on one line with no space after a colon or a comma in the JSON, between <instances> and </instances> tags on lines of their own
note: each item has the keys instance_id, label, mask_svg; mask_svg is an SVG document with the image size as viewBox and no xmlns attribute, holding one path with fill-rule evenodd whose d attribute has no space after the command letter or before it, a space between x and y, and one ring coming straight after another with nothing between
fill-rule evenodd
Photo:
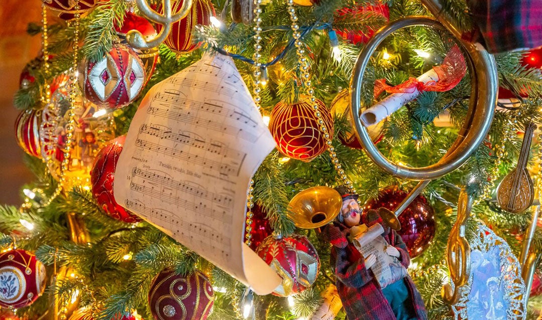
<instances>
[{"instance_id":1,"label":"large curled sheet of music with Twinkle, twinkle, little star","mask_svg":"<svg viewBox=\"0 0 542 320\"><path fill-rule=\"evenodd\" d=\"M141 101L115 171L115 199L266 295L281 278L243 232L250 178L274 147L233 60L205 55Z\"/></svg>"}]
</instances>

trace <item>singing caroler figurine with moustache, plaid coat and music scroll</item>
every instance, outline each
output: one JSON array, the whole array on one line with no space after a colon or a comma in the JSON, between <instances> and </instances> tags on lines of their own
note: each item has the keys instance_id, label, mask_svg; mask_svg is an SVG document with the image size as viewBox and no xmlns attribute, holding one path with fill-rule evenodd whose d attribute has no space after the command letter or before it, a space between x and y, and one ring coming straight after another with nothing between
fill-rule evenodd
<instances>
[{"instance_id":1,"label":"singing caroler figurine with moustache, plaid coat and music scroll","mask_svg":"<svg viewBox=\"0 0 542 320\"><path fill-rule=\"evenodd\" d=\"M358 195L346 186L335 190L343 207L326 232L348 319L427 319L420 292L406 272L410 256L401 236L383 225L375 210L362 215Z\"/></svg>"}]
</instances>

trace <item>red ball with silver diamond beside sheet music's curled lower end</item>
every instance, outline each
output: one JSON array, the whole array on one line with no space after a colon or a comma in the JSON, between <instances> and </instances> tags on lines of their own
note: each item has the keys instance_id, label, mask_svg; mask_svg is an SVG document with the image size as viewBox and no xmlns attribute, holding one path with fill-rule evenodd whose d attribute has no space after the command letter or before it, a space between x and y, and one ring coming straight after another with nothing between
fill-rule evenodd
<instances>
[{"instance_id":1,"label":"red ball with silver diamond beside sheet music's curled lower end","mask_svg":"<svg viewBox=\"0 0 542 320\"><path fill-rule=\"evenodd\" d=\"M320 269L320 258L305 236L269 236L263 240L256 253L282 278L273 295L287 297L309 288Z\"/></svg>"}]
</instances>

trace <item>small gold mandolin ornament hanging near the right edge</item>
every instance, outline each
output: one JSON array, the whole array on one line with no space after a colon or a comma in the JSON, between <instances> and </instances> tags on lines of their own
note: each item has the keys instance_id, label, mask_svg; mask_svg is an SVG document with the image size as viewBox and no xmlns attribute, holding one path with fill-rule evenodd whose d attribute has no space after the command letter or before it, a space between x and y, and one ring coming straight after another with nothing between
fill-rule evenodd
<instances>
[{"instance_id":1,"label":"small gold mandolin ornament hanging near the right edge","mask_svg":"<svg viewBox=\"0 0 542 320\"><path fill-rule=\"evenodd\" d=\"M533 122L525 127L525 135L521 143L518 165L501 181L497 188L497 202L499 206L511 213L527 210L533 203L534 187L531 176L527 171L529 150L533 140L534 130L537 128Z\"/></svg>"}]
</instances>

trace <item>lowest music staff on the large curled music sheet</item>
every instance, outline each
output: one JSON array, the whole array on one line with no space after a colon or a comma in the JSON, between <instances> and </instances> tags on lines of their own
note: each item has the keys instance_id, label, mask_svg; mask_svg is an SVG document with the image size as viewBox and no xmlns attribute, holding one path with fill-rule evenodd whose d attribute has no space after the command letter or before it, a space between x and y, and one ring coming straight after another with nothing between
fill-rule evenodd
<instances>
[{"instance_id":1,"label":"lowest music staff on the large curled music sheet","mask_svg":"<svg viewBox=\"0 0 542 320\"><path fill-rule=\"evenodd\" d=\"M170 223L171 227L170 230L173 232L173 234L182 234L183 236L190 236L191 233L198 233L202 236L202 238L208 238L212 239L213 241L209 241L209 244L214 243L214 241L218 241L221 244L224 244L230 247L231 239L224 237L218 230L215 228L212 228L208 225L200 224L200 223L189 223L188 225L184 223L182 220L172 220L171 215L166 216L161 213L161 210L153 209L145 206L144 204L137 203L135 201L126 200L125 205L128 209L141 213L145 215L146 217L154 217L159 220L162 220L166 223ZM160 211L159 211L160 210ZM175 225L175 227L174 227ZM198 226L199 225L199 226ZM203 227L202 227L203 226ZM175 229L176 228L176 229ZM175 231L176 230L176 231ZM181 231L183 230L183 231ZM185 234L186 232L186 234ZM193 238L193 236L190 236Z\"/></svg>"}]
</instances>

